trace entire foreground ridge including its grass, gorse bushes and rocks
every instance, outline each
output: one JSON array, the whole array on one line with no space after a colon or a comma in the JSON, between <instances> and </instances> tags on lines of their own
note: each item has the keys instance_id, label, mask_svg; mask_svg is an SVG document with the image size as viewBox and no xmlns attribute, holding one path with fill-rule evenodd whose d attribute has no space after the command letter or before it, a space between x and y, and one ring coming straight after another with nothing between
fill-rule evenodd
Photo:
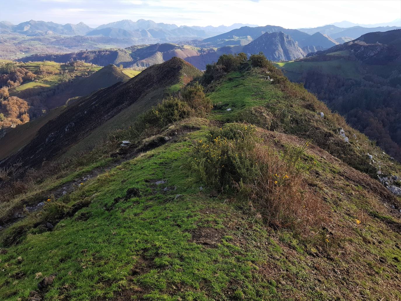
<instances>
[{"instance_id":1,"label":"entire foreground ridge including its grass, gorse bushes and rocks","mask_svg":"<svg viewBox=\"0 0 401 301\"><path fill-rule=\"evenodd\" d=\"M10 214L45 205L2 224L0 297L401 298L400 199L375 179L379 164L400 175L399 164L270 64L251 63L212 66L206 95L189 83L136 117L110 138L111 158L92 151L3 202Z\"/></svg>"}]
</instances>

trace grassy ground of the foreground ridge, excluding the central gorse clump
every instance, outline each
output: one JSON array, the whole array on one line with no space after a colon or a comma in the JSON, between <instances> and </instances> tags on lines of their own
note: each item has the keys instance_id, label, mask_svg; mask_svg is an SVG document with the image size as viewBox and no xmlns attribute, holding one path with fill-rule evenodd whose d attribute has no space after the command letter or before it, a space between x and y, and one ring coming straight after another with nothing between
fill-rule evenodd
<instances>
[{"instance_id":1,"label":"grassy ground of the foreground ridge, excluding the central gorse clump","mask_svg":"<svg viewBox=\"0 0 401 301\"><path fill-rule=\"evenodd\" d=\"M330 155L323 149L332 150L328 145L310 142L310 130L318 129L340 144L340 116L299 86L272 83L266 76L266 70L249 68L214 81L207 93L215 104L210 122L186 119L167 126L158 136L178 132L170 142L85 181L51 199L43 213L14 224L10 229L37 225L20 244L3 244L0 297L26 298L43 277L56 275L41 292L45 299L401 298L401 220L389 209L396 199L366 173ZM288 149L311 144L299 163L314 166L303 175L304 190L328 207L322 212L327 224L308 229L306 236L270 227L240 193L213 191L199 180L189 167L196 159L194 147L216 132L210 124L224 128L233 121L256 124L258 147L276 151L277 160L285 160ZM361 154L380 154L363 142L366 137L342 126L360 140L350 141L354 161L358 148ZM398 174L401 168L387 157L381 157L382 170ZM161 180L165 183L157 185ZM133 187L140 195L127 197ZM44 193L47 189L43 186ZM65 218L55 219L59 212ZM37 223L47 216L56 225L52 231Z\"/></svg>"}]
</instances>

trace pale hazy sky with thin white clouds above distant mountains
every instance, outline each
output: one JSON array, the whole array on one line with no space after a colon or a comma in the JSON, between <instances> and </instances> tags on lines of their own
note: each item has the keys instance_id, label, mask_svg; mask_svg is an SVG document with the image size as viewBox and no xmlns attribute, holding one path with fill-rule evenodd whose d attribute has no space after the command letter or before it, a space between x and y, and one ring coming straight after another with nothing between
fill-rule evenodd
<instances>
[{"instance_id":1,"label":"pale hazy sky with thin white clouds above distant mountains","mask_svg":"<svg viewBox=\"0 0 401 301\"><path fill-rule=\"evenodd\" d=\"M347 20L372 24L401 17L401 0L0 0L0 20L84 22L96 27L122 19L179 25L249 23L285 28Z\"/></svg>"}]
</instances>

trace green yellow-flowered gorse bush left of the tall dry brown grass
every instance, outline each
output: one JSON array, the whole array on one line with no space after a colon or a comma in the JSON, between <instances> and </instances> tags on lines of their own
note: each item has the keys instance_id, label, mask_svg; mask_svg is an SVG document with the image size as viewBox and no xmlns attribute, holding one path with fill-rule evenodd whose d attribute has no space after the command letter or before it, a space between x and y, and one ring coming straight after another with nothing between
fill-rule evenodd
<instances>
[{"instance_id":1,"label":"green yellow-flowered gorse bush left of the tall dry brown grass","mask_svg":"<svg viewBox=\"0 0 401 301\"><path fill-rule=\"evenodd\" d=\"M192 170L210 186L229 191L254 176L255 127L225 124L198 141Z\"/></svg>"}]
</instances>

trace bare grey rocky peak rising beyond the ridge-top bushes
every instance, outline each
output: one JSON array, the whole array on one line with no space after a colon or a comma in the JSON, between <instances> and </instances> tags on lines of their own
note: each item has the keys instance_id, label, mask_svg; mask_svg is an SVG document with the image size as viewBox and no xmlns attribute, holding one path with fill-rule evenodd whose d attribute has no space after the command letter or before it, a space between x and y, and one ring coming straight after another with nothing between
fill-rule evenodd
<instances>
[{"instance_id":1,"label":"bare grey rocky peak rising beyond the ridge-top bushes","mask_svg":"<svg viewBox=\"0 0 401 301\"><path fill-rule=\"evenodd\" d=\"M298 43L285 33L265 33L248 45L245 45L243 52L263 52L271 61L292 61L305 56Z\"/></svg>"}]
</instances>

